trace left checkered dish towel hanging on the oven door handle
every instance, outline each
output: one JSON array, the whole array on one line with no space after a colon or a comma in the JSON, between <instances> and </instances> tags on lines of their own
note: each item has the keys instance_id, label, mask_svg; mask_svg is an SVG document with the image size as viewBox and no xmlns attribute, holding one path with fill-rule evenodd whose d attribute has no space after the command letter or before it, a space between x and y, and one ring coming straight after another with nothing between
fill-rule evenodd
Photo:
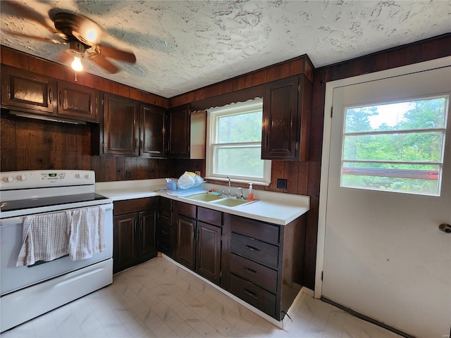
<instances>
[{"instance_id":1,"label":"left checkered dish towel hanging on the oven door handle","mask_svg":"<svg viewBox=\"0 0 451 338\"><path fill-rule=\"evenodd\" d=\"M16 266L52 261L68 252L66 213L27 216L23 222L22 247Z\"/></svg>"}]
</instances>

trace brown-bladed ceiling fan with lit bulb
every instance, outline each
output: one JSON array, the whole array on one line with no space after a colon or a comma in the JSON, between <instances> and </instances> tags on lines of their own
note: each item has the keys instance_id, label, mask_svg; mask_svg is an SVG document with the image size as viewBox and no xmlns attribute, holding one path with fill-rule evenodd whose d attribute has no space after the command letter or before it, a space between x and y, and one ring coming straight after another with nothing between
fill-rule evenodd
<instances>
[{"instance_id":1,"label":"brown-bladed ceiling fan with lit bulb","mask_svg":"<svg viewBox=\"0 0 451 338\"><path fill-rule=\"evenodd\" d=\"M51 27L43 15L23 6L19 1L2 1L2 4L10 6L18 17L39 23L53 33L55 37L39 37L4 30L7 34L54 44L68 44L69 49L62 51L58 56L58 60L62 63L72 61L71 66L76 72L83 70L81 60L85 57L111 74L118 73L119 68L109 61L109 58L127 63L136 62L135 54L132 51L124 51L100 44L102 36L108 35L108 33L84 15L61 10L60 8L51 9L49 17L55 26Z\"/></svg>"}]
</instances>

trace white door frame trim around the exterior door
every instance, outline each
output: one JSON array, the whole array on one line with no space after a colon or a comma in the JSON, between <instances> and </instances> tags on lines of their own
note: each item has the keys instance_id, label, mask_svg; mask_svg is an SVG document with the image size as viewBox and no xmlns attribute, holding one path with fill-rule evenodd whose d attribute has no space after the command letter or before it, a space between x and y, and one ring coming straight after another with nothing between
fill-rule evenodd
<instances>
[{"instance_id":1,"label":"white door frame trim around the exterior door","mask_svg":"<svg viewBox=\"0 0 451 338\"><path fill-rule=\"evenodd\" d=\"M323 149L321 157L321 176L319 190L319 217L318 217L318 235L316 243L316 270L315 270L315 288L314 298L320 299L322 296L323 281L323 265L324 265L324 244L326 239L326 210L328 198L328 178L329 178L329 155L330 155L330 132L332 131L332 104L333 90L338 87L345 87L351 84L362 82L370 82L374 80L382 80L389 77L399 75L407 75L418 73L424 70L432 70L451 65L451 56L445 58L437 58L431 61L414 63L398 68L381 70L376 73L347 77L342 80L326 82L326 96L324 101L324 124L323 124Z\"/></svg>"}]
</instances>

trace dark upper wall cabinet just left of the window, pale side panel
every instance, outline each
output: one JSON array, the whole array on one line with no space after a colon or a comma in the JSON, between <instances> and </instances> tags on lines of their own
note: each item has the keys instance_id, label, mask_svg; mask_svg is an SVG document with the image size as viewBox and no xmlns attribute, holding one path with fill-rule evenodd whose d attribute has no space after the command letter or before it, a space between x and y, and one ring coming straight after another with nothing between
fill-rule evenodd
<instances>
[{"instance_id":1,"label":"dark upper wall cabinet just left of the window, pale side panel","mask_svg":"<svg viewBox=\"0 0 451 338\"><path fill-rule=\"evenodd\" d=\"M205 158L206 111L190 111L189 105L168 111L168 157Z\"/></svg>"}]
</instances>

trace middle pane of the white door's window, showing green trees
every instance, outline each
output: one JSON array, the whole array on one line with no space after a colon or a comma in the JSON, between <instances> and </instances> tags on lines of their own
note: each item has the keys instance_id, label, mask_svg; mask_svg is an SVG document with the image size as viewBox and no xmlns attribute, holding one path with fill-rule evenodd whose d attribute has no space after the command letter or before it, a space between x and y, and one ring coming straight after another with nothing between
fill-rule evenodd
<instances>
[{"instance_id":1,"label":"middle pane of the white door's window, showing green trees","mask_svg":"<svg viewBox=\"0 0 451 338\"><path fill-rule=\"evenodd\" d=\"M343 160L440 162L443 132L345 135Z\"/></svg>"}]
</instances>

